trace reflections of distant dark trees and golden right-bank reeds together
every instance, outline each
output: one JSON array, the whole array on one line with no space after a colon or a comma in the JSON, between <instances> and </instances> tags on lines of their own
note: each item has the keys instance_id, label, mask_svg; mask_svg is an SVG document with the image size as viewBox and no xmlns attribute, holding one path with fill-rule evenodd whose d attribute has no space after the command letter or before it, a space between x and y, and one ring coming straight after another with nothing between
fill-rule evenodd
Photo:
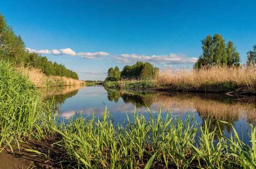
<instances>
[{"instance_id":1,"label":"reflections of distant dark trees and golden right-bank reeds together","mask_svg":"<svg viewBox=\"0 0 256 169\"><path fill-rule=\"evenodd\" d=\"M108 99L117 102L122 98L125 103L132 103L137 107L154 106L155 110L163 106L163 110L170 107L171 112L184 113L184 111L197 112L198 116L209 123L210 131L223 132L225 129L231 132L232 126L239 119L248 123L256 124L256 97L253 96L227 96L223 94L204 93L154 93L154 94L132 94L123 92L110 92ZM153 104L154 103L154 104ZM221 123L230 122L231 125ZM219 123L218 123L219 122Z\"/></svg>"}]
</instances>

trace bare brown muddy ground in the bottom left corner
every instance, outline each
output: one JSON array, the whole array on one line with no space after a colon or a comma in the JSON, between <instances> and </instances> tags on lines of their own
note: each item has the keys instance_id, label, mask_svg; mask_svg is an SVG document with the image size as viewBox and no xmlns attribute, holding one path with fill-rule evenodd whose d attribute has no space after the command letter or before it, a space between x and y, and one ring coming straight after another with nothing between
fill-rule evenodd
<instances>
[{"instance_id":1,"label":"bare brown muddy ground in the bottom left corner","mask_svg":"<svg viewBox=\"0 0 256 169\"><path fill-rule=\"evenodd\" d=\"M54 145L58 139L30 140L13 146L14 153L10 148L5 148L0 153L0 169L71 169L75 164L67 161L67 153L60 146ZM29 150L36 150L35 153Z\"/></svg>"}]
</instances>

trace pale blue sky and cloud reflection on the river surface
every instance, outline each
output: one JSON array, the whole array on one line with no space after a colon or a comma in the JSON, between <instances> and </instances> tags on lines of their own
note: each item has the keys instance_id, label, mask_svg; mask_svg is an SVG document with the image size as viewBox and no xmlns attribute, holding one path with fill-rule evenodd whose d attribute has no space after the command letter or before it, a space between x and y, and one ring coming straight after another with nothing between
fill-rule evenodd
<instances>
[{"instance_id":1,"label":"pale blue sky and cloud reflection on the river surface","mask_svg":"<svg viewBox=\"0 0 256 169\"><path fill-rule=\"evenodd\" d=\"M135 103L125 103L123 99L120 97L117 102L109 101L108 92L104 90L102 86L92 86L92 87L83 87L79 89L78 93L72 97L67 98L64 103L61 104L61 114L62 118L66 118L65 121L68 121L69 118L72 117L74 112L80 112L84 116L91 115L94 111L95 116L102 116L102 112L105 110L105 105L108 108L108 111L111 113L114 119L114 124L118 122L122 123L125 119L127 119L127 115L131 120L133 116L133 112L135 110ZM170 101L169 105L165 105L162 109L162 117L164 118L167 114L167 108L172 113L172 116L181 115L186 116L185 111L188 113L195 113L196 107L191 104L180 104L175 101ZM152 112L153 116L157 116L157 112L159 111L159 105L161 105L161 101L153 102L151 106L149 106L149 110ZM136 107L136 112L143 114L145 118L149 118L147 107ZM82 111L82 112L81 112ZM127 114L127 115L126 115ZM195 118L198 123L203 123L202 117L195 113ZM235 121L234 127L238 131L239 137L246 142L248 141L248 125L245 120L238 119ZM249 128L250 130L250 128ZM230 135L228 133L227 127L224 129L224 133Z\"/></svg>"}]
</instances>

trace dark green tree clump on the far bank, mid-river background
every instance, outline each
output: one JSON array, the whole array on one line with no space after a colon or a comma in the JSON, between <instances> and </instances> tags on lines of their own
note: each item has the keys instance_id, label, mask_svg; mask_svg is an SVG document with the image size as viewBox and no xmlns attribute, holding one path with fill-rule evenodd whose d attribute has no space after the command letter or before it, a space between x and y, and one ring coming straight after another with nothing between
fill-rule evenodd
<instances>
[{"instance_id":1,"label":"dark green tree clump on the far bank, mid-river background","mask_svg":"<svg viewBox=\"0 0 256 169\"><path fill-rule=\"evenodd\" d=\"M119 81L124 76L154 76L156 72L159 72L159 68L154 67L152 64L148 62L137 62L132 66L124 66L121 72L117 66L115 68L109 68L108 77L105 80Z\"/></svg>"}]
</instances>

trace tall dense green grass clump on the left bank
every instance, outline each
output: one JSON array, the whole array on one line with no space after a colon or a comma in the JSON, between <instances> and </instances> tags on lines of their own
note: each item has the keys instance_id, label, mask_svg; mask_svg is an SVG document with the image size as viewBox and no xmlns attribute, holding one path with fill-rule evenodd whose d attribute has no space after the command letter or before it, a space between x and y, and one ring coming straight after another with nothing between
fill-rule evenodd
<instances>
[{"instance_id":1,"label":"tall dense green grass clump on the left bank","mask_svg":"<svg viewBox=\"0 0 256 169\"><path fill-rule=\"evenodd\" d=\"M0 61L0 152L24 139L46 136L53 117L36 86L9 63ZM48 131L49 133L50 131ZM52 132L51 132L52 133Z\"/></svg>"}]
</instances>

